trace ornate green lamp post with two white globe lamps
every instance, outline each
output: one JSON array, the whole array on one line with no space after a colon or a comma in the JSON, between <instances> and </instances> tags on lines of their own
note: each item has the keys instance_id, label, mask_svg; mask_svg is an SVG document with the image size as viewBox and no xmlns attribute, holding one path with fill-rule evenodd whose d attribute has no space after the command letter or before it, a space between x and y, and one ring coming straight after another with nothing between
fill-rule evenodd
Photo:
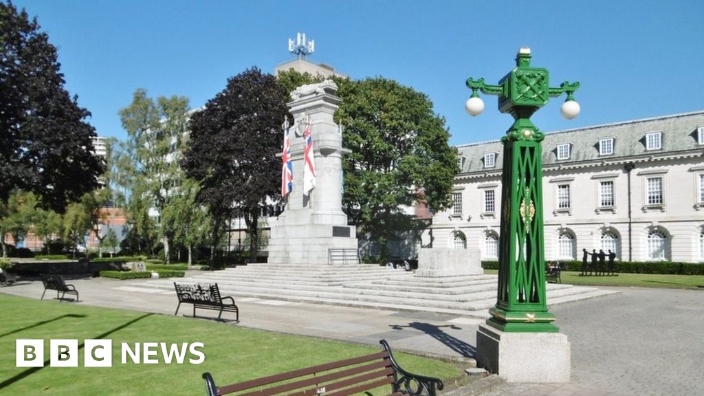
<instances>
[{"instance_id":1,"label":"ornate green lamp post with two white globe lamps","mask_svg":"<svg viewBox=\"0 0 704 396\"><path fill-rule=\"evenodd\" d=\"M499 239L498 294L486 323L504 332L557 333L555 316L548 312L545 296L545 252L543 240L543 191L541 144L544 135L530 120L549 97L567 93L562 116L579 114L572 98L579 82L548 85L548 70L530 66L530 49L522 48L516 67L498 85L484 79L467 80L472 96L465 108L477 116L484 102L477 91L498 95L498 110L515 119L503 143L501 190L501 237Z\"/></svg>"}]
</instances>

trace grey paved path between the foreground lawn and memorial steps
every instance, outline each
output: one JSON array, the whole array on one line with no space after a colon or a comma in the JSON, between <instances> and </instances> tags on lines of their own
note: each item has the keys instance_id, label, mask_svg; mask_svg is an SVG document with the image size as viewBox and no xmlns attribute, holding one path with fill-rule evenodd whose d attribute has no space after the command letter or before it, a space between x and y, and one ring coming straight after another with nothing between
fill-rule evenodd
<instances>
[{"instance_id":1,"label":"grey paved path between the foreground lawn and memorial steps","mask_svg":"<svg viewBox=\"0 0 704 396\"><path fill-rule=\"evenodd\" d=\"M176 307L175 293L142 289L134 281L130 286L103 278L70 283L80 290L80 304L170 315ZM0 292L33 298L42 290L41 282L0 287ZM618 290L622 292L551 309L572 343L571 383L506 384L491 376L451 394L704 395L704 290ZM480 321L255 298L238 298L237 304L238 326L371 345L385 338L394 349L450 357L474 356Z\"/></svg>"}]
</instances>

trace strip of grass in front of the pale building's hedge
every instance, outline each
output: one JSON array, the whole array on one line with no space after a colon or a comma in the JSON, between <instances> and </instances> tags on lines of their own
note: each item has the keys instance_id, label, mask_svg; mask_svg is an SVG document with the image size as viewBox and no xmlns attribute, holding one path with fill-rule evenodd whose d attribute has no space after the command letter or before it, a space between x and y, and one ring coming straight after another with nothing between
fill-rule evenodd
<instances>
[{"instance_id":1,"label":"strip of grass in front of the pale building's hedge","mask_svg":"<svg viewBox=\"0 0 704 396\"><path fill-rule=\"evenodd\" d=\"M496 270L484 270L496 274ZM704 289L702 275L662 275L657 273L620 273L618 276L579 276L578 271L562 271L562 283L592 286L669 287L671 289Z\"/></svg>"}]
</instances>

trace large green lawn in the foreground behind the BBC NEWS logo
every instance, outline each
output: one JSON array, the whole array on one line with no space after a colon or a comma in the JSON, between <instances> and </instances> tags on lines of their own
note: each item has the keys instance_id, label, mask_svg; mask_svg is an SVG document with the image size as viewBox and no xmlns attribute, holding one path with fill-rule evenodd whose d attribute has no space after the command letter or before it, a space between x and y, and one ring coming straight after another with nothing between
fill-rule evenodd
<instances>
[{"instance_id":1,"label":"large green lawn in the foreground behind the BBC NEWS logo","mask_svg":"<svg viewBox=\"0 0 704 396\"><path fill-rule=\"evenodd\" d=\"M201 378L210 371L221 385L314 364L358 357L379 348L284 335L228 326L194 318L144 314L87 307L81 304L38 301L0 295L0 395L205 395ZM313 315L311 315L312 319ZM49 361L49 339L106 338L113 340L113 366L42 369L15 367L15 340L44 339ZM120 344L129 342L203 342L203 364L127 364L120 362ZM391 347L394 343L391 342ZM396 354L408 371L439 377L447 385L467 383L459 364ZM197 358L197 357L194 357ZM390 388L374 395L387 394Z\"/></svg>"}]
</instances>

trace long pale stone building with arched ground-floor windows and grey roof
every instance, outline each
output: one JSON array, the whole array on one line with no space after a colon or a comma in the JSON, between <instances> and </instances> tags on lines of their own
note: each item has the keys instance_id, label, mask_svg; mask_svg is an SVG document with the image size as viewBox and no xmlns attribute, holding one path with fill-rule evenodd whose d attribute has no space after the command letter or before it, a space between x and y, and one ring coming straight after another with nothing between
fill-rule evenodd
<instances>
[{"instance_id":1,"label":"long pale stone building with arched ground-floor windows and grey roof","mask_svg":"<svg viewBox=\"0 0 704 396\"><path fill-rule=\"evenodd\" d=\"M542 148L546 259L704 261L704 111L552 132ZM497 259L503 146L457 149L453 208L423 245Z\"/></svg>"}]
</instances>

